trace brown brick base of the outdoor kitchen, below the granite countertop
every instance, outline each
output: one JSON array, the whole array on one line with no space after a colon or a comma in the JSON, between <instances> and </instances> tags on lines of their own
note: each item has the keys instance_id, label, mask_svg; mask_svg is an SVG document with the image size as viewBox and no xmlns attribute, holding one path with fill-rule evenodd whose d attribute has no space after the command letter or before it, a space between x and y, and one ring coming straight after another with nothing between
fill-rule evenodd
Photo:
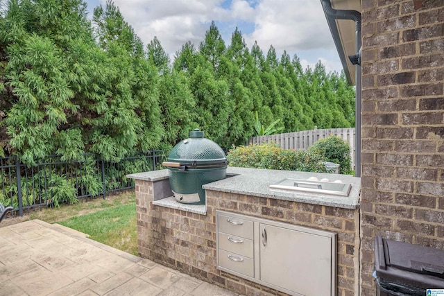
<instances>
[{"instance_id":1,"label":"brown brick base of the outdoor kitchen, below the granite countertop","mask_svg":"<svg viewBox=\"0 0 444 296\"><path fill-rule=\"evenodd\" d=\"M153 204L158 199L154 196L156 182L134 178L139 256L235 293L286 295L216 268L216 210L230 211L337 233L336 295L357 295L357 207L346 209L207 189L206 214L196 214Z\"/></svg>"}]
</instances>

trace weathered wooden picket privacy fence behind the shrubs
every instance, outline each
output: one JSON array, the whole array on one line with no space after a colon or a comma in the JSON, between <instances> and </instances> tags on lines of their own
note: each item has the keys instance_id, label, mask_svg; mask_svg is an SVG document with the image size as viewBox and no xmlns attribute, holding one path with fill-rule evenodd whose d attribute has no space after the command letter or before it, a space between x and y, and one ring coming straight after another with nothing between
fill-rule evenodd
<instances>
[{"instance_id":1,"label":"weathered wooden picket privacy fence behind the shrubs","mask_svg":"<svg viewBox=\"0 0 444 296\"><path fill-rule=\"evenodd\" d=\"M251 137L248 144L278 143L281 148L293 150L307 150L318 139L324 139L330 134L340 137L350 145L350 157L352 168L355 169L355 128L326 128L323 130L302 130L301 132L286 132L284 134L272 134L270 136Z\"/></svg>"}]
</instances>

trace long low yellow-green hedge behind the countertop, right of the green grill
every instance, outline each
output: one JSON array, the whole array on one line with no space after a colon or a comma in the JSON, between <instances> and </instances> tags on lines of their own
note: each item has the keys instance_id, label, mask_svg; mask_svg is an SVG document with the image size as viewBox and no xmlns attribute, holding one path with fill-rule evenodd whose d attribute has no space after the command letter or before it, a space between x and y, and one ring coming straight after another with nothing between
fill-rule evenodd
<instances>
[{"instance_id":1,"label":"long low yellow-green hedge behind the countertop, right of the green grill","mask_svg":"<svg viewBox=\"0 0 444 296\"><path fill-rule=\"evenodd\" d=\"M230 166L324 173L325 159L317 151L285 150L273 143L239 146L227 155Z\"/></svg>"}]
</instances>

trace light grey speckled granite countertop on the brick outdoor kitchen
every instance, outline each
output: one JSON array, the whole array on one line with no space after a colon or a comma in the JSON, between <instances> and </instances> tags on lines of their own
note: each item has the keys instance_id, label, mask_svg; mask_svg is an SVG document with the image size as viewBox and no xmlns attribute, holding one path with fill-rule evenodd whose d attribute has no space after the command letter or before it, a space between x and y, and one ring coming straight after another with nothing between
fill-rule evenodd
<instances>
[{"instance_id":1,"label":"light grey speckled granite countertop on the brick outdoor kitchen","mask_svg":"<svg viewBox=\"0 0 444 296\"><path fill-rule=\"evenodd\" d=\"M278 200L292 200L308 204L321 204L330 207L345 209L357 209L359 205L359 193L361 191L361 179L351 175L338 175L327 173L305 173L298 171L264 170L259 168L237 168L228 166L226 179L203 185L204 189L228 193L253 195L262 198L274 198ZM151 171L127 175L137 180L158 181L168 178L168 170ZM307 192L285 192L271 190L269 186L284 180L285 178L307 180L309 177L317 177L319 180L341 180L350 183L352 188L348 196L329 195Z\"/></svg>"}]
</instances>

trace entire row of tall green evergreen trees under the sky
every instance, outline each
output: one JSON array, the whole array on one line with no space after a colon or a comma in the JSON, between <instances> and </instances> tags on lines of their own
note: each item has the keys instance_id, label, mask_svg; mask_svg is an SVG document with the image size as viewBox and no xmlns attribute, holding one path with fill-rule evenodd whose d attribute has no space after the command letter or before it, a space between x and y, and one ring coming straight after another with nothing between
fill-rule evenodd
<instances>
[{"instance_id":1,"label":"entire row of tall green evergreen trees under the sky","mask_svg":"<svg viewBox=\"0 0 444 296\"><path fill-rule=\"evenodd\" d=\"M223 41L214 22L173 59L144 46L108 1L9 0L0 16L0 156L34 164L85 152L119 160L168 149L200 128L220 146L246 142L257 119L282 132L355 125L355 90L321 62ZM297 29L297 28L295 28ZM257 112L257 118L255 116ZM275 121L278 121L275 123Z\"/></svg>"}]
</instances>

